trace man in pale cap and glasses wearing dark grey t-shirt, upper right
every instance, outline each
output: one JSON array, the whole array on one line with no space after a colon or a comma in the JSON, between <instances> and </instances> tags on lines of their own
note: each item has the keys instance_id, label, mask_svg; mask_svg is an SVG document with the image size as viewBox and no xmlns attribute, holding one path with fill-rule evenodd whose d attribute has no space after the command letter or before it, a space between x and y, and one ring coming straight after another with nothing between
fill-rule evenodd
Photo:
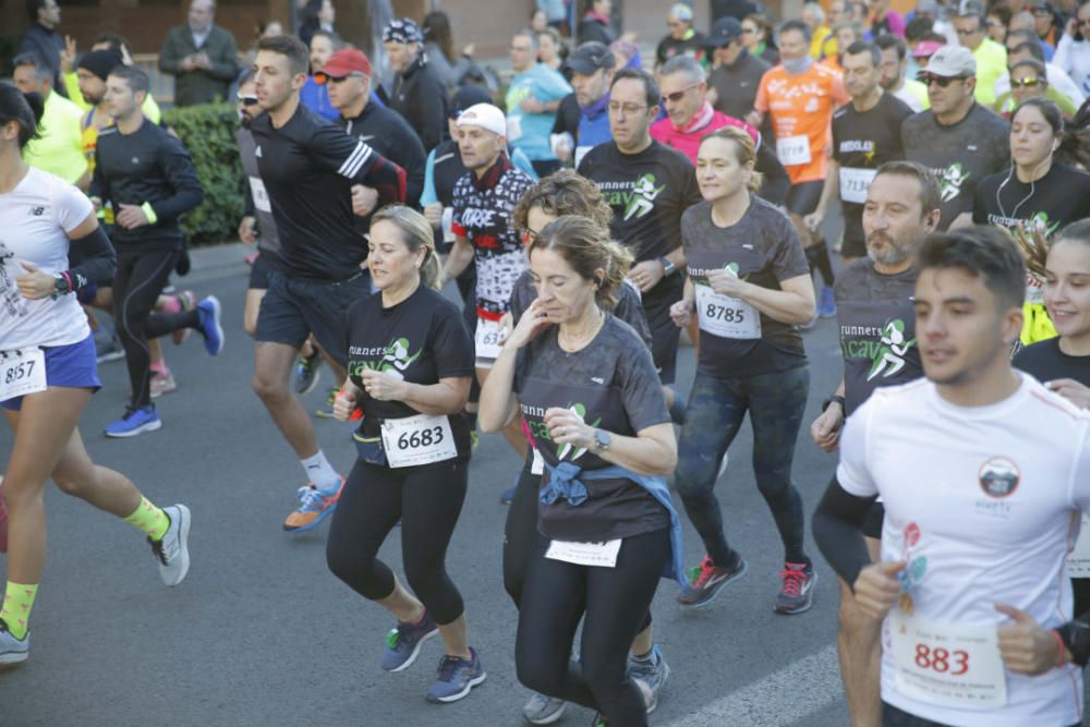
<instances>
[{"instance_id":1,"label":"man in pale cap and glasses wearing dark grey t-shirt, upper right","mask_svg":"<svg viewBox=\"0 0 1090 727\"><path fill-rule=\"evenodd\" d=\"M1010 124L973 100L977 62L965 48L943 46L920 81L931 108L905 119L905 158L934 170L942 186L940 230L968 225L977 184L1010 165Z\"/></svg>"}]
</instances>

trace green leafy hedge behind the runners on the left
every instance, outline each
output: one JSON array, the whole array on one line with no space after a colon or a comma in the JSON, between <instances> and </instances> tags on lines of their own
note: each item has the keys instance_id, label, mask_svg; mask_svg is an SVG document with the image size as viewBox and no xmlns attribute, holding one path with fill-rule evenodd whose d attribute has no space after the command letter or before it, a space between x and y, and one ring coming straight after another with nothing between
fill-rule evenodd
<instances>
[{"instance_id":1,"label":"green leafy hedge behind the runners on the left","mask_svg":"<svg viewBox=\"0 0 1090 727\"><path fill-rule=\"evenodd\" d=\"M205 189L199 207L182 217L193 244L233 241L242 219L245 178L234 134L239 112L228 104L170 109L164 121L190 150Z\"/></svg>"}]
</instances>

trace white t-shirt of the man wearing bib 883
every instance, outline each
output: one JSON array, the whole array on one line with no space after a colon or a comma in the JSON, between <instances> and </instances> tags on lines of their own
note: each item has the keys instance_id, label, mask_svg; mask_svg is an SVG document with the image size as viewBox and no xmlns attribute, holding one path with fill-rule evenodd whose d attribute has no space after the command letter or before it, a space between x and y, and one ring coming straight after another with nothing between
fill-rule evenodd
<instances>
[{"instance_id":1,"label":"white t-shirt of the man wearing bib 883","mask_svg":"<svg viewBox=\"0 0 1090 727\"><path fill-rule=\"evenodd\" d=\"M882 559L909 561L900 604L920 619L998 628L1008 619L995 603L1044 628L1071 618L1066 556L1090 506L1090 413L1021 379L979 408L947 402L927 379L880 388L845 425L837 480L858 497L882 496ZM882 699L910 714L981 727L1081 719L1077 667L1006 671L1005 707L957 708L898 689L888 618L882 644Z\"/></svg>"}]
</instances>

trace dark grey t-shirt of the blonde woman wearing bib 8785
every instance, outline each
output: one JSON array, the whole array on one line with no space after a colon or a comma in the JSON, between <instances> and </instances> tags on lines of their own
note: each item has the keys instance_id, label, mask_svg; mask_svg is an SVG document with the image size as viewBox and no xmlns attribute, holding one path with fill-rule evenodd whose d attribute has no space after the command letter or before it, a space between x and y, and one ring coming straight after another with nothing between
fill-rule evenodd
<instances>
[{"instance_id":1,"label":"dark grey t-shirt of the blonde woman wearing bib 8785","mask_svg":"<svg viewBox=\"0 0 1090 727\"><path fill-rule=\"evenodd\" d=\"M720 228L712 222L712 204L702 202L682 217L681 240L689 277L697 289L699 371L725 379L804 365L807 354L795 326L766 316L748 303L729 303L732 299L715 295L707 284L710 270L727 267L739 278L772 290L780 290L784 280L807 275L810 266L791 220L764 199L750 197L742 218ZM716 332L725 328L747 337ZM749 337L754 334L755 338Z\"/></svg>"}]
</instances>

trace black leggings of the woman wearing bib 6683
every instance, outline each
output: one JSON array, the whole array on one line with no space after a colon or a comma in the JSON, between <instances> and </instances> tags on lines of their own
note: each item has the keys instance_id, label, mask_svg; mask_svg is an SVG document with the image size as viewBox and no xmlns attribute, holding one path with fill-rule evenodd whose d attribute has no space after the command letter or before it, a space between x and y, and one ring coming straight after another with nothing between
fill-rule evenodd
<instances>
[{"instance_id":1,"label":"black leggings of the woman wearing bib 6683","mask_svg":"<svg viewBox=\"0 0 1090 727\"><path fill-rule=\"evenodd\" d=\"M401 520L401 559L409 587L445 626L464 610L447 575L450 536L465 499L469 463L391 470L356 460L344 483L326 544L334 575L371 601L393 594L393 572L378 548Z\"/></svg>"}]
</instances>

